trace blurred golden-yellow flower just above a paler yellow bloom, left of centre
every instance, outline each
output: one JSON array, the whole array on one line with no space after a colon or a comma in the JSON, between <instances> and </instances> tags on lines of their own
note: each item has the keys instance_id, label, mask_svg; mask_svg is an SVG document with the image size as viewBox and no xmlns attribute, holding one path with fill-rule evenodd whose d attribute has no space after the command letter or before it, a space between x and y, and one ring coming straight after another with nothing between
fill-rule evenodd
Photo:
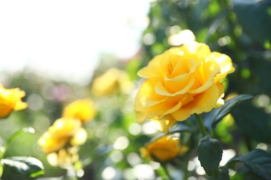
<instances>
[{"instance_id":1,"label":"blurred golden-yellow flower just above a paler yellow bloom, left of centre","mask_svg":"<svg viewBox=\"0 0 271 180\"><path fill-rule=\"evenodd\" d=\"M86 123L94 118L95 113L96 110L92 100L85 98L67 105L63 111L63 117L76 118L81 120L81 123Z\"/></svg>"}]
</instances>

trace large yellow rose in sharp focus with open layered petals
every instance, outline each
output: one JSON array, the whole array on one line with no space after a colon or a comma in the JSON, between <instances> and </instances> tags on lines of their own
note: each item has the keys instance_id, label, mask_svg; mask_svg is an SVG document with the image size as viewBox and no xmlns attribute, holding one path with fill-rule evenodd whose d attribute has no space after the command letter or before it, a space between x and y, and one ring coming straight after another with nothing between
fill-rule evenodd
<instances>
[{"instance_id":1,"label":"large yellow rose in sharp focus with open layered petals","mask_svg":"<svg viewBox=\"0 0 271 180\"><path fill-rule=\"evenodd\" d=\"M149 118L167 132L176 120L223 105L221 80L233 71L231 58L211 52L206 44L170 48L138 71L140 77L147 78L135 99L138 122Z\"/></svg>"}]
</instances>

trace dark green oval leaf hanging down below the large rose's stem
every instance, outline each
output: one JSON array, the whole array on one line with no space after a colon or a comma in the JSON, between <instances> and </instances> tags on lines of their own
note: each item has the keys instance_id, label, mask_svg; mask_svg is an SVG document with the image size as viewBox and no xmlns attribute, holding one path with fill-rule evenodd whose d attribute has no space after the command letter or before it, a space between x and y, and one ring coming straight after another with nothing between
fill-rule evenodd
<instances>
[{"instance_id":1,"label":"dark green oval leaf hanging down below the large rose's stem","mask_svg":"<svg viewBox=\"0 0 271 180\"><path fill-rule=\"evenodd\" d=\"M217 170L222 159L222 152L223 150L220 142L211 136L204 136L199 141L197 147L199 161L209 176Z\"/></svg>"}]
</instances>

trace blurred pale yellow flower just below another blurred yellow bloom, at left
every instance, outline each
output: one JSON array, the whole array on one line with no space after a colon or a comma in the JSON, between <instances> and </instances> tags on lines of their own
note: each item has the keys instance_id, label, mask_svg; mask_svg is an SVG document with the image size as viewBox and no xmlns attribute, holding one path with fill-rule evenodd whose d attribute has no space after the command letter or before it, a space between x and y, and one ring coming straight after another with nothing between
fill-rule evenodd
<instances>
[{"instance_id":1,"label":"blurred pale yellow flower just below another blurred yellow bloom, at left","mask_svg":"<svg viewBox=\"0 0 271 180\"><path fill-rule=\"evenodd\" d=\"M72 145L81 145L85 143L86 138L80 135L83 139L74 138L81 133L81 121L72 118L59 118L54 124L49 127L39 139L38 145L45 153L56 152L68 143ZM81 133L82 134L82 133ZM78 141L78 142L77 142Z\"/></svg>"}]
</instances>

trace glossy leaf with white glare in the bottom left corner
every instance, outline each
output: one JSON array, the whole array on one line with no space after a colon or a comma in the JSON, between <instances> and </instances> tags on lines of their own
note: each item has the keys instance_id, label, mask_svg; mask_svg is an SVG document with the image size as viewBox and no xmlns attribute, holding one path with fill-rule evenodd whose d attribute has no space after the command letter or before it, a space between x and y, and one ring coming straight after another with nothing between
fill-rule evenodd
<instances>
[{"instance_id":1,"label":"glossy leaf with white glare in the bottom left corner","mask_svg":"<svg viewBox=\"0 0 271 180\"><path fill-rule=\"evenodd\" d=\"M28 177L37 177L44 174L42 162L33 157L12 156L7 159L2 159L1 163L16 174L24 174Z\"/></svg>"}]
</instances>

